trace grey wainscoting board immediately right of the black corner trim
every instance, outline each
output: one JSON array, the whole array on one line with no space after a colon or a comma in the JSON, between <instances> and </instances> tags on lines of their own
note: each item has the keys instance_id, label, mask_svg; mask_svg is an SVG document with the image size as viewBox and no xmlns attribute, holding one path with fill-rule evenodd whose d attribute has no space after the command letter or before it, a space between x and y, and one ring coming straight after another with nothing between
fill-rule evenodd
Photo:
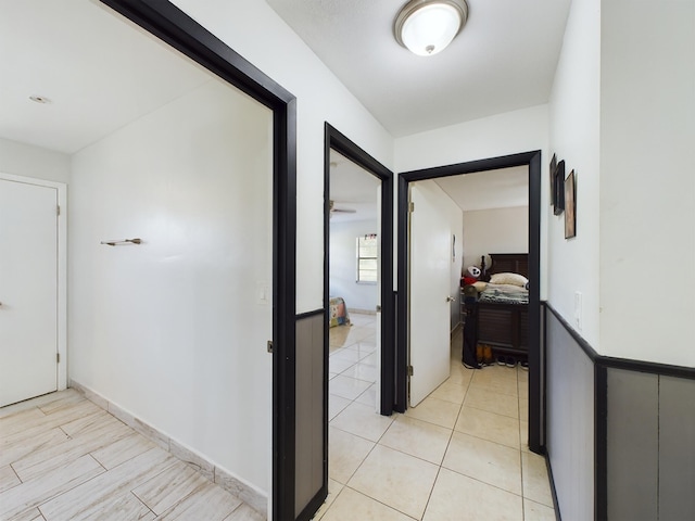
<instances>
[{"instance_id":1,"label":"grey wainscoting board immediately right of the black corner trim","mask_svg":"<svg viewBox=\"0 0 695 521\"><path fill-rule=\"evenodd\" d=\"M608 519L659 519L659 377L610 368L607 383Z\"/></svg>"}]
</instances>

